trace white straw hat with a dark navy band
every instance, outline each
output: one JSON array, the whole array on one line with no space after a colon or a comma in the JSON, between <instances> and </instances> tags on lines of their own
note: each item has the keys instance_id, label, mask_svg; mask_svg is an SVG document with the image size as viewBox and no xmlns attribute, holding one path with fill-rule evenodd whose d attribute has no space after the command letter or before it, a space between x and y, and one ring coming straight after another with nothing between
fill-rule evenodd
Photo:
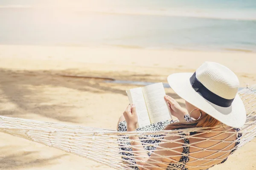
<instances>
[{"instance_id":1,"label":"white straw hat with a dark navy band","mask_svg":"<svg viewBox=\"0 0 256 170\"><path fill-rule=\"evenodd\" d=\"M246 112L237 94L239 80L229 68L216 62L204 62L195 73L176 73L167 78L181 98L218 121L242 127Z\"/></svg>"}]
</instances>

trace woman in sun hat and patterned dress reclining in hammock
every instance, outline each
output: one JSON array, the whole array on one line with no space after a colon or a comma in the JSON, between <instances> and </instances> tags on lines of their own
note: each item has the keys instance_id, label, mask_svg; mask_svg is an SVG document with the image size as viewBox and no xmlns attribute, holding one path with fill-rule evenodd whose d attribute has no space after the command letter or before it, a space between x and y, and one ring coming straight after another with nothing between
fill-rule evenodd
<instances>
[{"instance_id":1,"label":"woman in sun hat and patterned dress reclining in hammock","mask_svg":"<svg viewBox=\"0 0 256 170\"><path fill-rule=\"evenodd\" d=\"M168 82L186 102L186 109L181 108L171 96L164 96L172 115L179 122L167 120L136 129L136 106L128 105L119 119L118 130L180 129L180 135L162 135L161 139L169 141L165 143L160 143L159 135L151 136L158 137L157 139L145 139L141 142L138 142L139 137L130 136L134 142L131 142L131 147L120 147L122 158L137 170L206 170L226 161L239 144L241 133L235 132L239 131L238 127L242 127L246 119L243 102L237 94L239 80L236 75L223 65L205 62L194 74L169 75ZM208 127L206 129L211 131L201 133L195 130L189 134L182 132L182 129L195 127ZM172 142L173 140L176 142ZM143 147L145 143L160 144ZM130 142L125 144L129 145ZM134 159L132 152L137 156Z\"/></svg>"}]
</instances>

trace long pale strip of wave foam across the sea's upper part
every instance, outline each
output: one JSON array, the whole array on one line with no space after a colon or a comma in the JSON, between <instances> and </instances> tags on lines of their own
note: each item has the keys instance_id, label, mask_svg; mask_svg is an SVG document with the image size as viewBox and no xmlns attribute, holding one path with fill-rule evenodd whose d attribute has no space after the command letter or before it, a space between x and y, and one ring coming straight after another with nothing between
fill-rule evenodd
<instances>
[{"instance_id":1,"label":"long pale strip of wave foam across the sea's upper part","mask_svg":"<svg viewBox=\"0 0 256 170\"><path fill-rule=\"evenodd\" d=\"M61 9L67 12L94 12L116 15L148 15L170 17L197 17L223 20L256 20L256 9L204 9L204 8L125 8L125 7L100 7L100 6L29 6L7 5L0 8L40 8Z\"/></svg>"}]
</instances>

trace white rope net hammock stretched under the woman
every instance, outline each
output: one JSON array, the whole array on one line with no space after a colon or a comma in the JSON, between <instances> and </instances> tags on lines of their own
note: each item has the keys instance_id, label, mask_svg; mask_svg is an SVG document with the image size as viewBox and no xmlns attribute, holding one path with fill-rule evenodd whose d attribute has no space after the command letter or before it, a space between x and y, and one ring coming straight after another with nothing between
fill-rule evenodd
<instances>
[{"instance_id":1,"label":"white rope net hammock stretched under the woman","mask_svg":"<svg viewBox=\"0 0 256 170\"><path fill-rule=\"evenodd\" d=\"M230 152L233 152L233 150L236 150L256 137L256 85L244 88L239 91L239 95L247 111L246 123L239 132L231 130L232 128L228 127L225 128L226 130L221 130L223 129L221 125L216 129L190 128L184 129L182 132L179 132L180 130L118 132L116 130L64 125L5 116L0 116L0 132L9 133L13 136L64 150L118 170L138 169L138 167L143 167L145 170L152 168L166 170L166 167L168 167L168 170L173 170L179 169L177 165L183 165L189 170L201 170L220 163L229 156ZM209 134L209 132L213 131L215 134L218 134L204 137L207 136L204 134ZM189 135L190 132L197 133ZM184 136L184 133L186 136ZM218 139L224 133L233 133L233 135L227 139ZM242 133L241 138L235 141L229 140L232 136L237 136L238 133ZM130 142L133 141L129 139L129 136L138 136L144 148L148 149L148 154L151 154L151 156L147 164L136 164L136 162L141 162L138 158L142 157L139 154L142 151L132 151ZM180 137L170 141L167 140L169 136ZM190 143L184 144L181 139L189 139ZM214 144L206 146L208 141ZM159 144L170 142L175 144L175 146L178 144L178 147L166 148L159 146ZM225 147L216 149L219 144L223 146L223 143L225 143ZM235 143L237 144L236 146ZM182 152L183 147L189 147L190 153L184 154ZM122 150L122 148L126 149ZM176 157L177 155L179 157L187 156L189 161L185 165L179 159L174 159L174 155L170 155L167 158L169 161L166 162L154 161L154 158L166 159L166 156L155 153L160 150L166 152L172 151ZM199 155L201 156L195 156L198 155L197 153L200 153ZM172 164L169 163L171 161Z\"/></svg>"}]
</instances>

